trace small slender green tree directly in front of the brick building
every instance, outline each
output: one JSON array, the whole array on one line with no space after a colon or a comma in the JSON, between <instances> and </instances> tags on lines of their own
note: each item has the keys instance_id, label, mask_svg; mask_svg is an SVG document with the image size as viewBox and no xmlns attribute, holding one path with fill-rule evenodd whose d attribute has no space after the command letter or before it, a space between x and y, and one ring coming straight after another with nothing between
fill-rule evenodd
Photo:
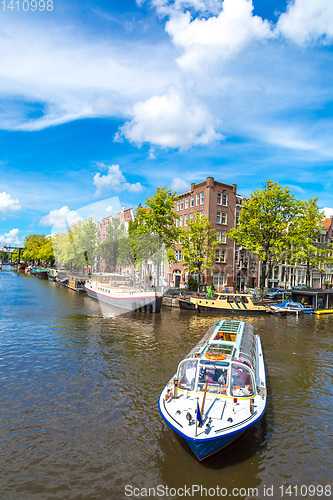
<instances>
[{"instance_id":1,"label":"small slender green tree directly in front of the brick building","mask_svg":"<svg viewBox=\"0 0 333 500\"><path fill-rule=\"evenodd\" d=\"M199 291L203 272L214 265L216 231L211 228L207 217L196 215L194 220L190 220L188 225L181 229L179 241L185 270L199 275Z\"/></svg>"}]
</instances>

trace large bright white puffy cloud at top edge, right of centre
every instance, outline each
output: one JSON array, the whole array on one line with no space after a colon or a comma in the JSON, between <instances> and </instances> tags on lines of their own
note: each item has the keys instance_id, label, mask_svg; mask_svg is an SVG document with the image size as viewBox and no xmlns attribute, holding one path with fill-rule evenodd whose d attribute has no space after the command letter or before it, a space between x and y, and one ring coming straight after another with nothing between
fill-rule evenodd
<instances>
[{"instance_id":1,"label":"large bright white puffy cloud at top edge, right of centre","mask_svg":"<svg viewBox=\"0 0 333 500\"><path fill-rule=\"evenodd\" d=\"M268 21L253 16L252 0L224 0L223 11L208 19L192 19L189 12L176 13L166 23L173 43L183 50L182 69L200 71L246 48L255 40L273 36Z\"/></svg>"}]
</instances>

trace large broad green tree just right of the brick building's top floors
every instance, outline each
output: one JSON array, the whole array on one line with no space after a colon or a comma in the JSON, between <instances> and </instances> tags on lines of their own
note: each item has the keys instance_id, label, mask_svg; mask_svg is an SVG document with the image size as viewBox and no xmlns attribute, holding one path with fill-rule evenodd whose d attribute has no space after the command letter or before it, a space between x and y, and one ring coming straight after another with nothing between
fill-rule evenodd
<instances>
[{"instance_id":1,"label":"large broad green tree just right of the brick building's top floors","mask_svg":"<svg viewBox=\"0 0 333 500\"><path fill-rule=\"evenodd\" d=\"M289 188L268 180L243 204L239 227L229 231L229 238L259 256L262 262L260 289L266 277L290 248L288 228L298 213L298 203Z\"/></svg>"}]
</instances>

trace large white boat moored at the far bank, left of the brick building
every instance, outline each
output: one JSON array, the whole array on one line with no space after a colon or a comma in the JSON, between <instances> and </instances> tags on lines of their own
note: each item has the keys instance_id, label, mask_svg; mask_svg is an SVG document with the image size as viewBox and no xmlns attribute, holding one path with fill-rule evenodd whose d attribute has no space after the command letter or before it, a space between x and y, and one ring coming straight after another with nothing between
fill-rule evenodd
<instances>
[{"instance_id":1,"label":"large white boat moored at the far bank, left of the brick building","mask_svg":"<svg viewBox=\"0 0 333 500\"><path fill-rule=\"evenodd\" d=\"M160 312L162 294L136 288L129 277L116 273L96 273L85 283L87 294L124 311Z\"/></svg>"}]
</instances>

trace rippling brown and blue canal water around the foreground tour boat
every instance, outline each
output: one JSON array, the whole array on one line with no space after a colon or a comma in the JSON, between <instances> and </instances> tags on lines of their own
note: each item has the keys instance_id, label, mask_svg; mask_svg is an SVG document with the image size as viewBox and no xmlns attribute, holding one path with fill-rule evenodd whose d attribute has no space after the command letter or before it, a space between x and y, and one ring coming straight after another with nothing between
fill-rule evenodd
<instances>
[{"instance_id":1,"label":"rippling brown and blue canal water around the foreground tour boat","mask_svg":"<svg viewBox=\"0 0 333 500\"><path fill-rule=\"evenodd\" d=\"M0 298L1 499L330 496L333 315L244 318L262 340L266 415L200 463L158 396L217 316L108 317L9 271Z\"/></svg>"}]
</instances>

